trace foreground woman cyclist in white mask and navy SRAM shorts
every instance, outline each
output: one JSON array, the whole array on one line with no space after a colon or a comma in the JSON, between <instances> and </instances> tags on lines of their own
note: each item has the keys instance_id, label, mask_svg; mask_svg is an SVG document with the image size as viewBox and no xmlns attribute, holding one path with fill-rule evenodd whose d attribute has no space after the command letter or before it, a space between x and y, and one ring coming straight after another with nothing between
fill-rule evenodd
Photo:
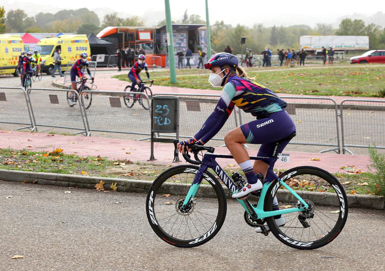
<instances>
[{"instance_id":1,"label":"foreground woman cyclist in white mask and navy SRAM shorts","mask_svg":"<svg viewBox=\"0 0 385 271\"><path fill-rule=\"evenodd\" d=\"M286 102L281 100L273 91L260 85L249 78L245 71L238 66L238 58L230 53L217 53L207 63L206 69L211 70L209 83L212 86L224 86L221 98L214 108L214 112L204 122L201 129L189 140L178 143L179 152L189 149L189 146L204 145L213 138L223 127L229 115L238 106L246 113L256 117L256 120L245 123L231 130L224 137L226 147L241 167L247 182L243 189L233 194L233 198L244 198L249 193L260 190L262 183L255 172L265 176L265 182L278 178L273 168L276 159L269 162L256 160L251 165L250 156L242 144L261 144L258 156L271 157L274 152L275 142L295 133L295 124L285 111ZM290 140L289 140L290 141ZM278 153L282 153L288 140L282 141ZM273 210L278 210L278 201L274 198ZM286 223L285 217L275 217L276 224L282 226ZM267 224L266 224L266 228ZM262 232L261 228L256 230Z\"/></svg>"}]
</instances>

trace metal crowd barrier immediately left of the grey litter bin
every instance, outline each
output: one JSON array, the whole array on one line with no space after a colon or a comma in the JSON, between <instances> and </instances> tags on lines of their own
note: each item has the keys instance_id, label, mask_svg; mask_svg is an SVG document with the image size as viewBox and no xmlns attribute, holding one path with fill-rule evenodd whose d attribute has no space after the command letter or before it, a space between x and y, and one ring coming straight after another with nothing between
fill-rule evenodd
<instances>
[{"instance_id":1,"label":"metal crowd barrier immediately left of the grey litter bin","mask_svg":"<svg viewBox=\"0 0 385 271\"><path fill-rule=\"evenodd\" d=\"M122 91L87 91L92 94L91 106L83 107L87 136L91 131L125 133L134 135L151 135L151 110L145 110L139 102L127 108L124 95L142 95L142 101L150 107L151 103L145 93ZM81 95L83 96L83 95Z\"/></svg>"}]
</instances>

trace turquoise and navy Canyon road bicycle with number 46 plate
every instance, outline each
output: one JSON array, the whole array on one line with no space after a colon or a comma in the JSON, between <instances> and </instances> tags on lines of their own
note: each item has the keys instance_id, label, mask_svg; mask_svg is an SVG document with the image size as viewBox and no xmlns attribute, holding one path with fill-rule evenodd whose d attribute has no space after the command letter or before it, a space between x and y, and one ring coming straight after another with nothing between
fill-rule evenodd
<instances>
[{"instance_id":1,"label":"turquoise and navy Canyon road bicycle with number 46 plate","mask_svg":"<svg viewBox=\"0 0 385 271\"><path fill-rule=\"evenodd\" d=\"M275 150L284 140L290 140L290 137L277 141ZM174 156L177 156L177 143L178 140L174 140ZM215 149L209 146L192 145L189 148L195 160L188 152L183 157L193 165L174 166L161 173L152 183L146 200L147 219L154 232L165 242L186 248L206 243L223 225L226 194L219 180L230 191L227 196L242 189L245 183L243 178L236 177L239 173L230 178L215 161L216 158L233 156L216 154ZM206 151L204 155L203 151ZM198 155L203 157L202 160ZM276 151L268 158L250 158L266 161L283 160L283 157L290 158ZM219 180L211 172L215 172ZM265 181L263 188L254 192L252 194L256 197L249 194L246 198L236 199L245 209L245 222L254 229L259 227L265 236L271 231L278 240L292 248L325 246L341 233L348 216L348 201L341 184L333 175L314 166L287 170L278 179ZM274 196L278 205L273 203ZM255 198L257 203L252 203L251 198ZM285 217L285 225L276 224L274 216L277 215Z\"/></svg>"}]
</instances>

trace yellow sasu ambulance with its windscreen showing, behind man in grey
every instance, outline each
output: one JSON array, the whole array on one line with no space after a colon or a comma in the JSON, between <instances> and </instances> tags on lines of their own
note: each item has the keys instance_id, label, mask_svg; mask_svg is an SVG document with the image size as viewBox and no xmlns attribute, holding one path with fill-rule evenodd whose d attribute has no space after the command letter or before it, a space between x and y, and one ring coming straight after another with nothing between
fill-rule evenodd
<instances>
[{"instance_id":1,"label":"yellow sasu ambulance with its windscreen showing, behind man in grey","mask_svg":"<svg viewBox=\"0 0 385 271\"><path fill-rule=\"evenodd\" d=\"M88 60L91 60L91 49L87 35L60 35L59 37L42 38L33 48L37 50L42 58L42 71L51 74L54 70L54 52L60 49L62 57L62 70L65 70L69 61L76 61L80 58L80 53L88 53ZM73 63L69 63L72 65Z\"/></svg>"}]
</instances>

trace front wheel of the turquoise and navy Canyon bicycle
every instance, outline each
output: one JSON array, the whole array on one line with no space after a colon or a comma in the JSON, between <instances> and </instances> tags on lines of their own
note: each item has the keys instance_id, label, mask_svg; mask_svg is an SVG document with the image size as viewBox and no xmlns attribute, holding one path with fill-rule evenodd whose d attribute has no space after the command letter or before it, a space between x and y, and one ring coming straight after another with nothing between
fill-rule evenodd
<instances>
[{"instance_id":1,"label":"front wheel of the turquoise and navy Canyon bicycle","mask_svg":"<svg viewBox=\"0 0 385 271\"><path fill-rule=\"evenodd\" d=\"M147 219L154 232L174 246L192 248L206 243L222 227L226 197L218 180L208 171L193 200L183 201L198 166L174 166L159 175L147 194Z\"/></svg>"}]
</instances>

